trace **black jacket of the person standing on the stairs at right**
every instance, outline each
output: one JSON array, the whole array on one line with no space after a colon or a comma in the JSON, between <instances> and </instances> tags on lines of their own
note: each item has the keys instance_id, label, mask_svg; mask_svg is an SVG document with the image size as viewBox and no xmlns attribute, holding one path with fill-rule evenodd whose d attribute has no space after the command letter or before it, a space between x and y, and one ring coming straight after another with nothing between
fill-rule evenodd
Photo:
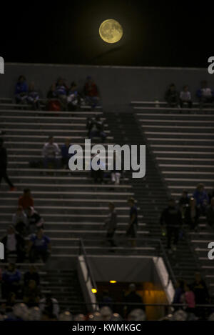
<instances>
[{"instance_id":1,"label":"black jacket of the person standing on the stairs at right","mask_svg":"<svg viewBox=\"0 0 214 335\"><path fill-rule=\"evenodd\" d=\"M182 224L182 215L180 209L170 206L168 206L166 209L163 209L160 218L160 224L165 224L166 226L180 226Z\"/></svg>"}]
</instances>

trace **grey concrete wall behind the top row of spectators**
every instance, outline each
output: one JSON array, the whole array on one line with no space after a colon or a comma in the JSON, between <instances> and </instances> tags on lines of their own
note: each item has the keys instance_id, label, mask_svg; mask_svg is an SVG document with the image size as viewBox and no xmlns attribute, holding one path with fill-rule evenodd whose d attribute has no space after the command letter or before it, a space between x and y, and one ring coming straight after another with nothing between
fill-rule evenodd
<instances>
[{"instance_id":1,"label":"grey concrete wall behind the top row of spectators","mask_svg":"<svg viewBox=\"0 0 214 335\"><path fill-rule=\"evenodd\" d=\"M93 76L101 91L105 111L131 111L131 100L163 101L165 88L174 82L180 90L189 84L195 99L200 81L208 80L214 89L214 74L208 69L149 68L123 66L82 66L56 64L5 64L0 75L0 97L12 97L20 74L34 81L45 97L51 83L62 76L68 82L76 81L81 88L87 75Z\"/></svg>"}]
</instances>

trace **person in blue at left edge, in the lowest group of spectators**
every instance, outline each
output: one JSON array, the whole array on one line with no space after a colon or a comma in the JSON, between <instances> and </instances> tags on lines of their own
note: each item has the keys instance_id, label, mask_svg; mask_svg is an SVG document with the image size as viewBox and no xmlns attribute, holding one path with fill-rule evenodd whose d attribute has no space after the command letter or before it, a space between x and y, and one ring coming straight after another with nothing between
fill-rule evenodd
<instances>
[{"instance_id":1,"label":"person in blue at left edge, in the lowest group of spectators","mask_svg":"<svg viewBox=\"0 0 214 335\"><path fill-rule=\"evenodd\" d=\"M17 296L21 289L21 273L16 269L16 264L9 263L8 268L2 274L1 296L3 299L8 299L9 294L14 292Z\"/></svg>"}]
</instances>

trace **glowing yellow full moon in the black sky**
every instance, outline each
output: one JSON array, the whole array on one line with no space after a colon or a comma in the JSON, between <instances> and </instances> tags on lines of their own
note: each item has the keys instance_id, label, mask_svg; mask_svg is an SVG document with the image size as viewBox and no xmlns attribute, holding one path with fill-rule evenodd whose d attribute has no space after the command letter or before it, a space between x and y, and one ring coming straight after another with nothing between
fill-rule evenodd
<instances>
[{"instance_id":1,"label":"glowing yellow full moon in the black sky","mask_svg":"<svg viewBox=\"0 0 214 335\"><path fill-rule=\"evenodd\" d=\"M116 43L123 36L123 28L118 21L113 19L105 20L99 28L101 39L107 43Z\"/></svg>"}]
</instances>

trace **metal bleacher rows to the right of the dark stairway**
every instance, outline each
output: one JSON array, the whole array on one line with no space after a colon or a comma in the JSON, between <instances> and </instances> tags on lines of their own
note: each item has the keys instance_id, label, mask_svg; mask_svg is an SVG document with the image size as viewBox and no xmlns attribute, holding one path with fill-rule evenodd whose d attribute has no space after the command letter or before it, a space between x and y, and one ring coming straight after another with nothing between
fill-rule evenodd
<instances>
[{"instance_id":1,"label":"metal bleacher rows to the right of the dark stairway","mask_svg":"<svg viewBox=\"0 0 214 335\"><path fill-rule=\"evenodd\" d=\"M206 191L214 186L214 109L168 108L160 102L132 101L135 116L146 144L153 154L168 192L179 199L183 189L189 194L198 183L205 184ZM149 107L148 107L149 106ZM161 107L160 107L161 106ZM214 231L200 217L199 229L189 232L193 254L214 295L214 265L208 259L208 243L214 239Z\"/></svg>"}]
</instances>

